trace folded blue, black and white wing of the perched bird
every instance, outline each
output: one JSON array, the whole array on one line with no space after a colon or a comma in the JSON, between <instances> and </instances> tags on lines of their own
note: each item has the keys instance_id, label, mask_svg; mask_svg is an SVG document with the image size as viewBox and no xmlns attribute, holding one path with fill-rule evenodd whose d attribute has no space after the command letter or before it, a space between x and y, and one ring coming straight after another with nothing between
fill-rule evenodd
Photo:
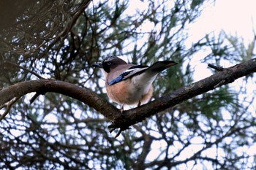
<instances>
[{"instance_id":1,"label":"folded blue, black and white wing of the perched bird","mask_svg":"<svg viewBox=\"0 0 256 170\"><path fill-rule=\"evenodd\" d=\"M122 80L127 80L128 78L131 78L136 74L141 74L145 72L146 69L148 69L148 66L141 66L141 65L131 66L129 67L129 69L125 70L120 75L118 75L118 77L108 82L108 85L114 85L117 82L121 82Z\"/></svg>"}]
</instances>

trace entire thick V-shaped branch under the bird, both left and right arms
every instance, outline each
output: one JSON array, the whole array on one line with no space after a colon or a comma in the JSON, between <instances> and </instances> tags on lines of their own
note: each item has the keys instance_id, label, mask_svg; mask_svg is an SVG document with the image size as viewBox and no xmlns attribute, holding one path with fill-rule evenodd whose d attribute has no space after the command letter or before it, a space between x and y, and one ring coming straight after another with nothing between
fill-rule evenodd
<instances>
[{"instance_id":1,"label":"entire thick V-shaped branch under the bird, both left and right arms","mask_svg":"<svg viewBox=\"0 0 256 170\"><path fill-rule=\"evenodd\" d=\"M16 85L4 88L3 90L0 90L0 106L12 100L12 98L24 96L31 92L61 93L78 99L89 107L93 107L112 121L109 128L120 128L120 130L123 131L129 128L130 125L141 122L146 119L146 117L155 115L157 112L161 112L176 104L180 104L182 101L206 93L209 90L214 90L221 85L231 83L240 77L244 77L254 72L256 72L256 58L237 64L236 66L222 69L222 71L219 71L206 79L187 85L184 88L179 88L178 90L173 91L173 93L157 98L148 104L144 104L135 109L129 109L122 113L104 98L100 98L91 90L80 88L77 85L59 80L32 80L28 82L20 82Z\"/></svg>"}]
</instances>

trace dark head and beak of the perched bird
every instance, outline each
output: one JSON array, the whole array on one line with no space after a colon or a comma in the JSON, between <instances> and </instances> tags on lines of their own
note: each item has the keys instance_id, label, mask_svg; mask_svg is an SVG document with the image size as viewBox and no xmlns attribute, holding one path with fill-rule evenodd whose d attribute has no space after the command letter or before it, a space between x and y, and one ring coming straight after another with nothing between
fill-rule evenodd
<instances>
[{"instance_id":1,"label":"dark head and beak of the perched bird","mask_svg":"<svg viewBox=\"0 0 256 170\"><path fill-rule=\"evenodd\" d=\"M109 73L112 69L115 69L116 66L121 64L127 64L127 62L123 61L121 58L108 55L108 57L104 58L101 63L94 63L92 66L101 68Z\"/></svg>"}]
</instances>

